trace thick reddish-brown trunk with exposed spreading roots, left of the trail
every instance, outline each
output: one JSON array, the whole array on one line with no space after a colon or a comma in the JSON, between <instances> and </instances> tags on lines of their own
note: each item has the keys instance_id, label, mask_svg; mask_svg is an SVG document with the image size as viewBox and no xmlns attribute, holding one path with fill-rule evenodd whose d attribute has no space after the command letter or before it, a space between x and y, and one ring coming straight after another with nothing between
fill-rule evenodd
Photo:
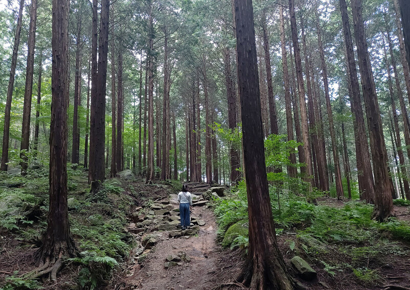
<instances>
[{"instance_id":1,"label":"thick reddish-brown trunk with exposed spreading roots, left of the trail","mask_svg":"<svg viewBox=\"0 0 410 290\"><path fill-rule=\"evenodd\" d=\"M67 0L53 0L52 76L50 126L50 201L47 230L37 254L41 265L51 267L51 279L61 266L61 258L75 255L70 236L67 205L67 99L68 95L68 11ZM56 282L56 281L54 281Z\"/></svg>"}]
</instances>

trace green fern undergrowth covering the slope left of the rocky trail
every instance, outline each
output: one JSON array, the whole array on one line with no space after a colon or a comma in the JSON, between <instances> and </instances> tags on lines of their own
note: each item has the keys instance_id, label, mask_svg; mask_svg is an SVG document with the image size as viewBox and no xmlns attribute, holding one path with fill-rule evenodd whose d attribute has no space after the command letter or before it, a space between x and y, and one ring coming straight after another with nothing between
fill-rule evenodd
<instances>
[{"instance_id":1,"label":"green fern undergrowth covering the slope left of the rocky trail","mask_svg":"<svg viewBox=\"0 0 410 290\"><path fill-rule=\"evenodd\" d=\"M128 258L133 237L125 231L134 199L124 193L121 181L108 179L98 194L91 194L87 173L68 166L70 231L80 257L68 262L78 268L78 284L71 289L97 289ZM17 251L41 243L47 227L48 170L31 170L26 177L0 173L0 232L25 241ZM29 241L30 243L27 243ZM0 290L35 289L40 284L24 280L23 273L9 275Z\"/></svg>"}]
</instances>

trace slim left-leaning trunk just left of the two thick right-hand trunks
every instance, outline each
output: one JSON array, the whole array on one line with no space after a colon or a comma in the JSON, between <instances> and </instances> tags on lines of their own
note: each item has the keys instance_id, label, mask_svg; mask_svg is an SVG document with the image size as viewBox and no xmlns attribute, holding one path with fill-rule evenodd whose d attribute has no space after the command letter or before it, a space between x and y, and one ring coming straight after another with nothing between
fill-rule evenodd
<instances>
[{"instance_id":1,"label":"slim left-leaning trunk just left of the two thick right-hand trunks","mask_svg":"<svg viewBox=\"0 0 410 290\"><path fill-rule=\"evenodd\" d=\"M327 68L326 68L326 61L324 59L321 29L319 27L320 26L319 15L316 16L316 19L317 19L317 36L318 36L318 43L319 43L319 54L320 54L320 60L321 60L321 65L322 65L324 95L326 98L327 118L329 119L329 129L330 129L330 136L331 136L331 141L332 141L333 161L335 163L336 194L337 194L338 199L342 199L344 197L343 185L342 185L342 174L340 171L340 161L339 161L339 154L338 154L338 149L337 149L335 127L333 125L332 105L330 102L329 82L327 80Z\"/></svg>"}]
</instances>

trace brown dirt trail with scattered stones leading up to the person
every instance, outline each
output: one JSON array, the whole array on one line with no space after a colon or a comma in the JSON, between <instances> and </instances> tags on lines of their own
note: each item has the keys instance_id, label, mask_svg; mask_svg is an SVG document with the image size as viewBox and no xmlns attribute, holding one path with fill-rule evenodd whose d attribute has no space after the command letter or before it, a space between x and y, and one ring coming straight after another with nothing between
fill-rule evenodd
<instances>
[{"instance_id":1,"label":"brown dirt trail with scattered stones leading up to the person","mask_svg":"<svg viewBox=\"0 0 410 290\"><path fill-rule=\"evenodd\" d=\"M178 207L175 196L169 200L174 208ZM164 200L157 202L161 201ZM147 256L143 262L137 264L135 261L136 264L131 266L127 278L131 289L196 290L212 289L221 284L222 276L226 274L224 267L232 270L236 261L227 258L216 243L217 225L212 211L205 206L194 206L192 217L205 222L194 236L170 238L169 231L150 233L157 235L158 241L151 250L145 250ZM165 267L167 256L180 256L182 253L190 258L189 262L180 261L177 265Z\"/></svg>"}]
</instances>

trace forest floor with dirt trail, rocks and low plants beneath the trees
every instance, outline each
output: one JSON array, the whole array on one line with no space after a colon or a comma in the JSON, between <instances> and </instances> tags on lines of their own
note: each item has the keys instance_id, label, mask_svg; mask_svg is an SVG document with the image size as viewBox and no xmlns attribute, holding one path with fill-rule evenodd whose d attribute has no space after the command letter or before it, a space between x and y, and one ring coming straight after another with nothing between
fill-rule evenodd
<instances>
[{"instance_id":1,"label":"forest floor with dirt trail, rocks and low plants beneath the trees","mask_svg":"<svg viewBox=\"0 0 410 290\"><path fill-rule=\"evenodd\" d=\"M46 227L48 177L46 171L24 178L0 177L0 289L245 289L235 280L244 250L220 245L213 202L194 206L195 225L181 231L176 228L179 182L146 185L142 179L114 178L93 196L88 192L86 173L80 170L69 171L69 217L71 234L83 258L68 262L57 284L26 280L24 273L37 266L35 252ZM410 287L408 232L399 232L400 238L392 235L390 228L376 233L371 230L372 221L361 220L363 213L354 208L355 203L321 198L317 208L324 215L321 218L331 219L333 209L351 206L347 223L355 220L358 240L341 239L330 229L326 230L332 239L321 240L311 230L313 224L278 231L286 264L291 268L290 259L299 255L314 268L317 279L298 278L308 289ZM409 206L395 205L395 215L410 225ZM357 225L356 220L362 223ZM394 230L402 230L400 226ZM87 260L92 257L87 256L90 252L116 259L113 271L107 261Z\"/></svg>"}]
</instances>

